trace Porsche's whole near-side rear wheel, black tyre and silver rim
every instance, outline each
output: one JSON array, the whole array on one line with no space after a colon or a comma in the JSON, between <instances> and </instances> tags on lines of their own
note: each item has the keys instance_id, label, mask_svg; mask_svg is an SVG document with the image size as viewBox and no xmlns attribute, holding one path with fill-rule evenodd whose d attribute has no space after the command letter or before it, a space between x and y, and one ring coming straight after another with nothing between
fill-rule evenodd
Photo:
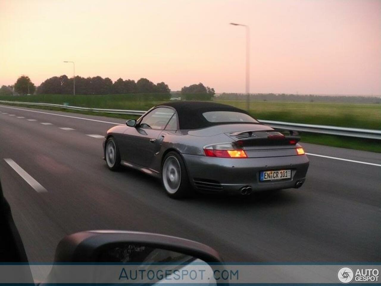
<instances>
[{"instance_id":1,"label":"Porsche's whole near-side rear wheel, black tyre and silver rim","mask_svg":"<svg viewBox=\"0 0 381 286\"><path fill-rule=\"evenodd\" d=\"M174 151L165 155L162 164L162 185L166 194L173 199L191 195L191 185L181 156Z\"/></svg>"}]
</instances>

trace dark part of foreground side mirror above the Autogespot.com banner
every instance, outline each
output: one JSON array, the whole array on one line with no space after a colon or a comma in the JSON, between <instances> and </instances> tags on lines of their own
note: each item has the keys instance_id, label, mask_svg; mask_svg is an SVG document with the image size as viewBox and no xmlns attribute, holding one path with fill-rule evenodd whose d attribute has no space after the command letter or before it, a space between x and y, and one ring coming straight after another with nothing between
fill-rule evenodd
<instances>
[{"instance_id":1,"label":"dark part of foreground side mirror above the Autogespot.com banner","mask_svg":"<svg viewBox=\"0 0 381 286\"><path fill-rule=\"evenodd\" d=\"M113 256L115 249L132 245L140 245L151 250L179 252L205 262L221 262L218 252L202 243L174 236L117 230L91 230L65 236L56 248L54 261L60 263L109 262L109 260L119 259L118 256ZM136 263L141 262L142 258L144 257L140 255L139 258L131 255L128 260ZM166 261L170 262L169 260L170 256L166 257Z\"/></svg>"}]
</instances>

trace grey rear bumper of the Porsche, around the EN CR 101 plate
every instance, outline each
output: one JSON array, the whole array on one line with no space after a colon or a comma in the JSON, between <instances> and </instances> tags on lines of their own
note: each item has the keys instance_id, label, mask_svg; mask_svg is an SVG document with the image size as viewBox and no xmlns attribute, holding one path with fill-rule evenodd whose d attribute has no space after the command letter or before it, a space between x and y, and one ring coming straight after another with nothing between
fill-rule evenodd
<instances>
[{"instance_id":1,"label":"grey rear bumper of the Porsche, around the EN CR 101 plate","mask_svg":"<svg viewBox=\"0 0 381 286\"><path fill-rule=\"evenodd\" d=\"M192 185L207 193L240 194L245 186L253 191L295 188L296 182L304 182L309 165L306 155L244 159L182 156ZM259 181L261 171L284 169L291 169L290 179Z\"/></svg>"}]
</instances>

